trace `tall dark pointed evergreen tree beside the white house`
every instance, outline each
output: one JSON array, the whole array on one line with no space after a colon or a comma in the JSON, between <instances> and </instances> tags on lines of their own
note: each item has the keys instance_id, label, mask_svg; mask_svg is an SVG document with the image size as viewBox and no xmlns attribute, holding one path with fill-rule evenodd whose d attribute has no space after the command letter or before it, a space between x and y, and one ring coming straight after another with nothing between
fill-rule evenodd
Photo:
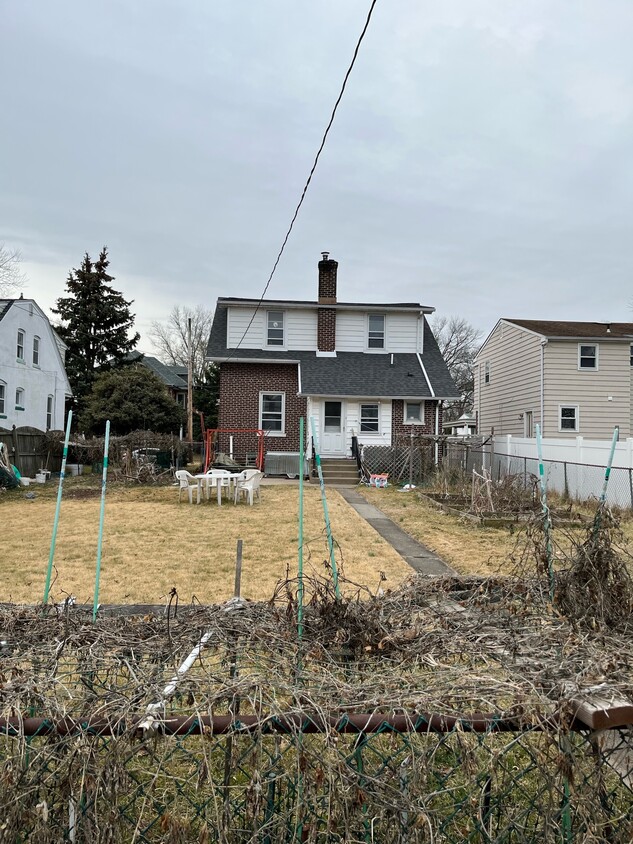
<instances>
[{"instance_id":1,"label":"tall dark pointed evergreen tree beside the white house","mask_svg":"<svg viewBox=\"0 0 633 844\"><path fill-rule=\"evenodd\" d=\"M104 246L94 263L86 252L79 269L68 274L66 291L52 308L61 325L57 331L68 346L66 371L75 398L81 404L90 392L97 367L122 362L138 343L138 333L130 335L134 314L131 301L110 284L108 251Z\"/></svg>"}]
</instances>

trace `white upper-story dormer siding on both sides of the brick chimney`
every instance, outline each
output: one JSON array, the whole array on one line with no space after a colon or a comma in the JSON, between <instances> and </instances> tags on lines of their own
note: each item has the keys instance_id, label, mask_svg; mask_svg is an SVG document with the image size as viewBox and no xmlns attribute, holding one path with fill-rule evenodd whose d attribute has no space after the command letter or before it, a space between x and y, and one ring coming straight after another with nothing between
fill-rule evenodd
<instances>
[{"instance_id":1,"label":"white upper-story dormer siding on both sides of the brick chimney","mask_svg":"<svg viewBox=\"0 0 633 844\"><path fill-rule=\"evenodd\" d=\"M269 315L282 313L283 345L268 343ZM316 351L317 308L286 308L270 304L255 313L254 307L229 307L227 320L227 347L234 349L287 349ZM336 350L340 352L366 352L369 338L369 311L336 308ZM399 313L371 311L384 316L384 346L373 353L422 352L424 320L418 312ZM253 314L255 318L253 319ZM253 319L249 327L249 322ZM248 329L248 330L247 330ZM246 336L244 336L246 332ZM279 334L277 335L279 336ZM244 339L242 339L244 338Z\"/></svg>"}]
</instances>

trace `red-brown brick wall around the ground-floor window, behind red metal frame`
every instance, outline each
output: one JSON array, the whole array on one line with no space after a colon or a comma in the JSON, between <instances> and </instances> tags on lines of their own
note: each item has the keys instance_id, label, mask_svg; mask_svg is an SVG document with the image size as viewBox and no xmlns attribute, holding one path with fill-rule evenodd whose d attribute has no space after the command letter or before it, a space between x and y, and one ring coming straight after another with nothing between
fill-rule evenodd
<instances>
[{"instance_id":1,"label":"red-brown brick wall around the ground-floor window, behind red metal frame","mask_svg":"<svg viewBox=\"0 0 633 844\"><path fill-rule=\"evenodd\" d=\"M266 451L299 451L299 418L307 412L306 399L297 395L299 378L296 364L220 364L219 428L259 427L259 394L286 394L286 436L267 437ZM228 442L228 437L224 439ZM235 438L236 459L241 459L239 437ZM222 450L228 446L220 440ZM247 450L253 450L250 447Z\"/></svg>"}]
</instances>

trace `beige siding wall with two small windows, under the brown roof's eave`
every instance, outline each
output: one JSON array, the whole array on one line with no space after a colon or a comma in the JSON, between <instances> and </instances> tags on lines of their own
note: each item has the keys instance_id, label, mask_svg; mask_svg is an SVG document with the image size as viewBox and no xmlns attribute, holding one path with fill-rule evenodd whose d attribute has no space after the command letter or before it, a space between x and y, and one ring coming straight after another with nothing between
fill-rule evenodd
<instances>
[{"instance_id":1,"label":"beige siding wall with two small windows, under the brown roof's eave","mask_svg":"<svg viewBox=\"0 0 633 844\"><path fill-rule=\"evenodd\" d=\"M589 343L589 341L587 341ZM592 343L593 345L593 343ZM608 439L615 425L630 436L631 366L628 343L598 345L598 369L578 369L578 341L550 340L545 347L545 435ZM610 397L610 398L609 398ZM577 406L577 431L559 431L560 405ZM504 433L514 433L504 431Z\"/></svg>"}]
</instances>

